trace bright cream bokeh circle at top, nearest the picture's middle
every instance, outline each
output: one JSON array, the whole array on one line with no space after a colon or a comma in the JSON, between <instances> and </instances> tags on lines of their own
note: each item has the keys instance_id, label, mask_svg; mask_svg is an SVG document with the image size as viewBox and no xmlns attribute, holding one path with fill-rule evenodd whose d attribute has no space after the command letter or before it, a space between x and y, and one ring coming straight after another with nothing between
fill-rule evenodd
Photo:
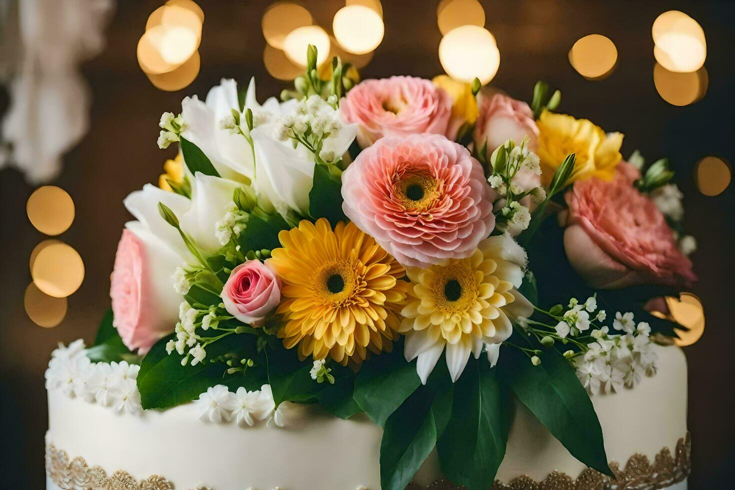
<instances>
[{"instance_id":1,"label":"bright cream bokeh circle at top, nearest the picture's middle","mask_svg":"<svg viewBox=\"0 0 735 490\"><path fill-rule=\"evenodd\" d=\"M348 5L334 14L332 30L345 51L367 54L383 40L383 19L378 12L363 5Z\"/></svg>"}]
</instances>

